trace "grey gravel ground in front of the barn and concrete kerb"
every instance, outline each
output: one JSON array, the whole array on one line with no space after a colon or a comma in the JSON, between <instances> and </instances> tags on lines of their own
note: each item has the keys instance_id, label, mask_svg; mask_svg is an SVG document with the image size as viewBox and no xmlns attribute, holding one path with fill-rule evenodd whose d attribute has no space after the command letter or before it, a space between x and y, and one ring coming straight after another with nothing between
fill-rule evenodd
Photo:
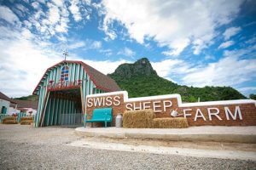
<instances>
[{"instance_id":1,"label":"grey gravel ground in front of the barn and concrete kerb","mask_svg":"<svg viewBox=\"0 0 256 170\"><path fill-rule=\"evenodd\" d=\"M0 124L0 169L256 169L255 161L166 156L68 146L74 128Z\"/></svg>"}]
</instances>

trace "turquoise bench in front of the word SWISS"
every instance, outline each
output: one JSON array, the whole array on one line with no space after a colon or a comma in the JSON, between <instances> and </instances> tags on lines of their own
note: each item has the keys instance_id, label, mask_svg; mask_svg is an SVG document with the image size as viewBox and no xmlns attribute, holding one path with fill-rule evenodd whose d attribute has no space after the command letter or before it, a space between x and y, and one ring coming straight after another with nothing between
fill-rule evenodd
<instances>
[{"instance_id":1,"label":"turquoise bench in front of the word SWISS","mask_svg":"<svg viewBox=\"0 0 256 170\"><path fill-rule=\"evenodd\" d=\"M105 122L105 127L107 123L111 122L111 127L113 126L112 122L112 108L100 108L94 109L91 115L90 120L87 119L87 114L84 117L84 127L86 127L87 122L90 122L91 127L93 127L93 122Z\"/></svg>"}]
</instances>

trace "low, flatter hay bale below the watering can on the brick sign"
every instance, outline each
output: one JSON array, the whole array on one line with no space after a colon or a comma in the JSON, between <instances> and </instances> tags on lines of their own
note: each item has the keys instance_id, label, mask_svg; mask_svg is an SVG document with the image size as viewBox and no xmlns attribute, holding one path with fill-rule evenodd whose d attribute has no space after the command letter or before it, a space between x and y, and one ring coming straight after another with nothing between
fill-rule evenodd
<instances>
[{"instance_id":1,"label":"low, flatter hay bale below the watering can on the brick sign","mask_svg":"<svg viewBox=\"0 0 256 170\"><path fill-rule=\"evenodd\" d=\"M184 117L165 117L155 118L154 128L187 128L189 127L188 120Z\"/></svg>"}]
</instances>

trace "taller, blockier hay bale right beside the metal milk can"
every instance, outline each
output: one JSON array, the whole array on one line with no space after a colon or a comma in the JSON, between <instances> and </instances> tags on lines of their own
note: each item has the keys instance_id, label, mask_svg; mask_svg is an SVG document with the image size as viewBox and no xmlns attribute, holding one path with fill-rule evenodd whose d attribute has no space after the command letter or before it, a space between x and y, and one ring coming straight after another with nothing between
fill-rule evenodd
<instances>
[{"instance_id":1,"label":"taller, blockier hay bale right beside the metal milk can","mask_svg":"<svg viewBox=\"0 0 256 170\"><path fill-rule=\"evenodd\" d=\"M153 110L125 111L123 127L125 128L151 128L155 117Z\"/></svg>"}]
</instances>

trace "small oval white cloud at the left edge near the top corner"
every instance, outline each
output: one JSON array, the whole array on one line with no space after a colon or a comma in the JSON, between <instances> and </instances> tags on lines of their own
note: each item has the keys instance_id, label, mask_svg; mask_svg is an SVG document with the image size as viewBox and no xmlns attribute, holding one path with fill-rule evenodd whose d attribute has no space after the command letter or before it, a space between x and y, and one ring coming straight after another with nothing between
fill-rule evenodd
<instances>
[{"instance_id":1,"label":"small oval white cloud at the left edge near the top corner","mask_svg":"<svg viewBox=\"0 0 256 170\"><path fill-rule=\"evenodd\" d=\"M8 7L0 6L0 18L6 20L10 24L20 22L19 18Z\"/></svg>"}]
</instances>

